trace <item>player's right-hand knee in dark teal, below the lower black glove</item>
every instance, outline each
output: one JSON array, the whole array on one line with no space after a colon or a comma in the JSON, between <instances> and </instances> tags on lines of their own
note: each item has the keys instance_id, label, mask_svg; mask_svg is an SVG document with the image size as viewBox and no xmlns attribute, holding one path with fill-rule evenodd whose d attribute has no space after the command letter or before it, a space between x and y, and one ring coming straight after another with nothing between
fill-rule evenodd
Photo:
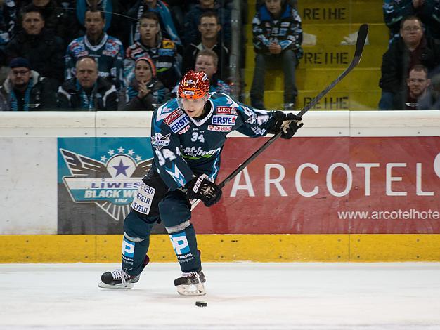
<instances>
[{"instance_id":1,"label":"player's right-hand knee in dark teal, below the lower black glove","mask_svg":"<svg viewBox=\"0 0 440 330\"><path fill-rule=\"evenodd\" d=\"M185 195L172 192L159 203L160 218L167 232L179 232L190 225L191 211Z\"/></svg>"}]
</instances>

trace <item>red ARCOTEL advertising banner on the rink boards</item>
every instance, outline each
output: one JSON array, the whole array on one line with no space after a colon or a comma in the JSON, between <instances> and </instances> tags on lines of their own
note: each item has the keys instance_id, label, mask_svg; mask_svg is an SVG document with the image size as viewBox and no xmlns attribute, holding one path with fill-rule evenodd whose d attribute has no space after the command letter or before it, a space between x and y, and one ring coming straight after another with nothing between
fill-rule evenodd
<instances>
[{"instance_id":1,"label":"red ARCOTEL advertising banner on the rink boards","mask_svg":"<svg viewBox=\"0 0 440 330\"><path fill-rule=\"evenodd\" d=\"M230 138L219 182L262 145ZM193 211L200 233L440 233L440 138L280 139Z\"/></svg>"}]
</instances>

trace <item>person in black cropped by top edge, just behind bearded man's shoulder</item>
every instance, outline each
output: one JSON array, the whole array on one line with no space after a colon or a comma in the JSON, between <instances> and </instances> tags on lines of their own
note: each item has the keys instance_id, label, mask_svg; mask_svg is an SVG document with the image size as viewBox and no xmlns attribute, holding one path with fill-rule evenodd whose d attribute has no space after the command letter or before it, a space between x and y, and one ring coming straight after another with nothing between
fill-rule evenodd
<instances>
[{"instance_id":1,"label":"person in black cropped by top edge, just behind bearded man's shoulder","mask_svg":"<svg viewBox=\"0 0 440 330\"><path fill-rule=\"evenodd\" d=\"M32 0L30 4L39 8L43 15L44 27L63 39L63 48L79 36L79 26L73 8L63 7L59 0Z\"/></svg>"}]
</instances>

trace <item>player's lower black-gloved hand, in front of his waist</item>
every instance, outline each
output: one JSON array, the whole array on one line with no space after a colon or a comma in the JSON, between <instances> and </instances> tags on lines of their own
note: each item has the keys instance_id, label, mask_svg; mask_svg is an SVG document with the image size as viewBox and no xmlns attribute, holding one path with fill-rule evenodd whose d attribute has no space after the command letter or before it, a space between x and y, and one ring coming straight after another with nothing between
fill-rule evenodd
<instances>
[{"instance_id":1,"label":"player's lower black-gloved hand, in front of his waist","mask_svg":"<svg viewBox=\"0 0 440 330\"><path fill-rule=\"evenodd\" d=\"M205 206L209 207L221 198L221 189L212 181L208 180L206 174L196 176L187 185L186 195L189 199L200 199Z\"/></svg>"}]
</instances>

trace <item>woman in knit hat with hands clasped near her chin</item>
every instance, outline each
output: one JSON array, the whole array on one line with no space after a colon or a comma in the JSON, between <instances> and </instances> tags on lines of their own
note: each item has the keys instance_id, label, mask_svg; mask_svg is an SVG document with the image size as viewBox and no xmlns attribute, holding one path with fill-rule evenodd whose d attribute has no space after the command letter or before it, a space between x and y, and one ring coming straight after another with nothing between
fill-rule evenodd
<instances>
[{"instance_id":1,"label":"woman in knit hat with hands clasped near her chin","mask_svg":"<svg viewBox=\"0 0 440 330\"><path fill-rule=\"evenodd\" d=\"M122 110L153 111L170 98L168 88L157 80L156 67L150 58L136 60L134 79L122 95L125 101Z\"/></svg>"}]
</instances>

